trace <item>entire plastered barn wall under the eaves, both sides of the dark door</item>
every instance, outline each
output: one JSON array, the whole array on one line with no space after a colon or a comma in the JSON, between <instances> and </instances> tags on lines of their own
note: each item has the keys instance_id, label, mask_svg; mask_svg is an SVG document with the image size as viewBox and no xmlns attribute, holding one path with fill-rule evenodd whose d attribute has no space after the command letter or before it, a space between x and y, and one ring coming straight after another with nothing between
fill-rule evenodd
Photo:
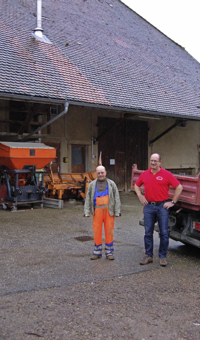
<instances>
[{"instance_id":1,"label":"entire plastered barn wall under the eaves, both sides of the dark door","mask_svg":"<svg viewBox=\"0 0 200 340\"><path fill-rule=\"evenodd\" d=\"M0 119L1 121L9 119L8 111L9 101L0 101ZM60 112L63 107L60 107ZM71 171L71 145L81 144L86 146L88 169L93 171L98 164L99 152L98 142L94 144L93 153L95 158L91 157L91 138L98 136L98 116L122 118L122 112L112 110L105 111L102 109L92 109L81 106L69 106L65 116L51 124L51 137L43 138L42 141L61 142L61 172ZM42 115L42 123L47 119ZM151 140L169 128L176 121L174 118L146 119L139 115L131 119L147 120L149 126L148 139ZM5 132L9 132L9 124L0 123L0 139L3 140ZM47 128L43 129L42 134L47 134ZM199 148L200 145L200 122L187 121L186 127L176 127L162 136L159 140L149 146L149 159L151 153L159 152L162 156L162 166L167 169L193 168L193 174L199 172ZM64 163L63 157L68 157L69 162Z\"/></svg>"}]
</instances>

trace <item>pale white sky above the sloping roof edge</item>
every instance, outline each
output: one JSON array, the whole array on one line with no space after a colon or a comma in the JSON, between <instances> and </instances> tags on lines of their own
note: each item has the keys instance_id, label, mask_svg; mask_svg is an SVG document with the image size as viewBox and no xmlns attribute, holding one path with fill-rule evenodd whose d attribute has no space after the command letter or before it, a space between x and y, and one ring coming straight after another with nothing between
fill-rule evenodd
<instances>
[{"instance_id":1,"label":"pale white sky above the sloping roof edge","mask_svg":"<svg viewBox=\"0 0 200 340\"><path fill-rule=\"evenodd\" d=\"M199 0L121 0L200 63Z\"/></svg>"}]
</instances>

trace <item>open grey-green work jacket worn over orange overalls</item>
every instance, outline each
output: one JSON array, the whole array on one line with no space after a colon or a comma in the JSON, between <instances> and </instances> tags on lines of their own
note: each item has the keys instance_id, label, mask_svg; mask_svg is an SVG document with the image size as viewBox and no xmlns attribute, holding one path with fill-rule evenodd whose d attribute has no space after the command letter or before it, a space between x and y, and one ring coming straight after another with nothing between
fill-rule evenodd
<instances>
[{"instance_id":1,"label":"open grey-green work jacket worn over orange overalls","mask_svg":"<svg viewBox=\"0 0 200 340\"><path fill-rule=\"evenodd\" d=\"M121 210L121 202L119 198L119 192L117 189L117 186L115 182L109 180L106 177L107 184L109 186L109 214L110 216L113 215L120 215ZM95 187L96 187L97 179L90 182L88 189L87 189L87 195L85 199L85 205L84 205L84 215L94 215L94 196L95 196Z\"/></svg>"}]
</instances>

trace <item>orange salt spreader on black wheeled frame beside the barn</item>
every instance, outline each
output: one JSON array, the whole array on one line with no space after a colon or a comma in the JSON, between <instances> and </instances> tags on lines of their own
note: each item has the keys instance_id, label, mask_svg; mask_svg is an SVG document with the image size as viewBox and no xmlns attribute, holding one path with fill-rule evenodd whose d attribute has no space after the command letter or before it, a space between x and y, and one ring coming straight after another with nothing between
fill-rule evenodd
<instances>
[{"instance_id":1,"label":"orange salt spreader on black wheeled frame beside the barn","mask_svg":"<svg viewBox=\"0 0 200 340\"><path fill-rule=\"evenodd\" d=\"M56 149L43 143L0 142L0 201L2 208L18 204L43 207L44 168L56 158Z\"/></svg>"}]
</instances>

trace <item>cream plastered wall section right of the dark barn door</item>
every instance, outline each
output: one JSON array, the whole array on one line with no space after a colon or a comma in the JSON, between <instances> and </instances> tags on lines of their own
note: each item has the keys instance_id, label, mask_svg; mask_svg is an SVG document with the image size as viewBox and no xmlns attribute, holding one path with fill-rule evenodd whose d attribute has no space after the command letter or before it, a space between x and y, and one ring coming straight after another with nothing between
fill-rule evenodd
<instances>
[{"instance_id":1,"label":"cream plastered wall section right of the dark barn door","mask_svg":"<svg viewBox=\"0 0 200 340\"><path fill-rule=\"evenodd\" d=\"M172 118L151 120L149 122L149 140L155 138L175 122ZM187 121L186 127L169 131L149 147L149 157L158 152L162 156L162 166L166 169L194 168L193 175L199 172L200 122ZM195 173L194 173L195 172Z\"/></svg>"}]
</instances>

